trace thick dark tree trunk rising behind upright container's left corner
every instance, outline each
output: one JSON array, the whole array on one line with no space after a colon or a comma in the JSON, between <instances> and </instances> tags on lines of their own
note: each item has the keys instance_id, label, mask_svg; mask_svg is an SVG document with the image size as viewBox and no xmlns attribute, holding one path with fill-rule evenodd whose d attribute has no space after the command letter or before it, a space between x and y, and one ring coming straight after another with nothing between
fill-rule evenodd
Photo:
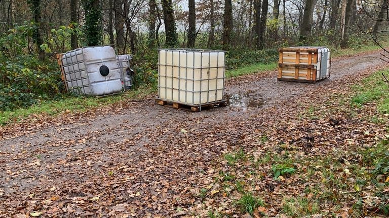
<instances>
[{"instance_id":1,"label":"thick dark tree trunk rising behind upright container's left corner","mask_svg":"<svg viewBox=\"0 0 389 218\"><path fill-rule=\"evenodd\" d=\"M172 0L162 0L162 10L164 11L166 45L175 47L177 45L177 34Z\"/></svg>"}]
</instances>

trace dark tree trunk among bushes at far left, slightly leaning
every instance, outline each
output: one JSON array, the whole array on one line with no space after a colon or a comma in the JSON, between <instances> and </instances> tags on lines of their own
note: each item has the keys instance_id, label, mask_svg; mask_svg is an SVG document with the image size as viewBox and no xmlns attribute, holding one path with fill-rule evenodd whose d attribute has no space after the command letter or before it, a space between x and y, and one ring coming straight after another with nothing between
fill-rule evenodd
<instances>
[{"instance_id":1,"label":"dark tree trunk among bushes at far left, slightly leaning","mask_svg":"<svg viewBox=\"0 0 389 218\"><path fill-rule=\"evenodd\" d=\"M29 1L29 4L33 14L33 22L35 24L33 39L36 43L38 58L39 60L42 61L45 59L45 51L41 49L41 45L43 44L43 39L41 34L42 31L41 0L31 0Z\"/></svg>"}]
</instances>

